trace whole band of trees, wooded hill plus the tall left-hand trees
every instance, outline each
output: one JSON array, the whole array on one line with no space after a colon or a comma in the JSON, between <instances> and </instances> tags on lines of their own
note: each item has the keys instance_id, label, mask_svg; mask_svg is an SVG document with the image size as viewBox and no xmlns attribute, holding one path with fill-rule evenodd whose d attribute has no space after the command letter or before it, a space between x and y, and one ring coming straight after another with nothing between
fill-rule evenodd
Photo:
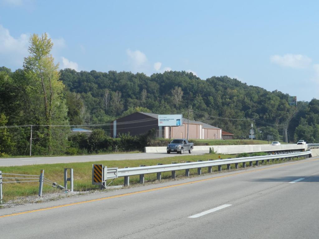
<instances>
[{"instance_id":1,"label":"whole band of trees, wooded hill plus the tall left-hand trees","mask_svg":"<svg viewBox=\"0 0 319 239\"><path fill-rule=\"evenodd\" d=\"M288 141L319 141L317 99L298 102L296 112L288 105L288 93L269 92L227 76L202 80L185 71L151 76L59 71L50 55L52 45L46 34L34 34L23 69L0 68L0 156L28 155L31 130L33 155L130 150L125 147L132 140L138 149L147 144L146 136L125 135L115 142L107 126L136 111L182 113L184 118L190 112L190 120L220 127L235 138L248 138L253 123L256 138L263 140L267 135L282 137L288 120ZM70 126L78 125L96 131L89 137L70 136Z\"/></svg>"}]
</instances>

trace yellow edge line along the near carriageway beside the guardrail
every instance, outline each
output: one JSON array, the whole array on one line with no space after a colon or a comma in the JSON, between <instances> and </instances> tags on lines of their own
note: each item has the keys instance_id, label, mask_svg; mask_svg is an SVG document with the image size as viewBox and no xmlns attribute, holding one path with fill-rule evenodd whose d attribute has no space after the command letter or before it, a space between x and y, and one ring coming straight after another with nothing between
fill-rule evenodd
<instances>
[{"instance_id":1,"label":"yellow edge line along the near carriageway beside the guardrail","mask_svg":"<svg viewBox=\"0 0 319 239\"><path fill-rule=\"evenodd\" d=\"M82 202L75 202L75 203L63 204L63 205L59 205L59 206L45 207L45 208L41 208L41 209L30 210L30 211L25 211L25 212L20 212L20 213L7 214L7 215L0 216L0 218L11 217L11 216L27 214L27 213L40 212L40 211L46 211L46 210L50 210L50 209L61 208L61 207L66 207L66 206L73 206L73 205L79 205L79 204L84 204L84 203L89 203L89 202L97 202L97 201L101 201L101 200L105 200L105 199L120 198L120 197L130 196L130 195L139 194L139 193L152 192L152 191L157 191L157 190L161 190L161 189L178 187L178 186L182 186L182 185L200 183L200 182L209 181L209 180L213 180L213 179L218 179L218 178L223 178L223 177L230 177L230 176L235 176L235 175L240 175L240 174L250 173L250 172L256 172L256 171L261 171L261 170L266 170L266 169L279 168L279 167L284 167L284 166L288 166L288 165L292 165L292 164L310 162L310 161L314 161L314 160L318 160L318 158L307 160L307 161L298 161L298 162L295 162L295 163L289 163L289 164L284 164L284 165L276 165L276 166L272 166L272 167L268 167L268 168L261 168L261 169L249 170L249 171L244 171L244 172L238 172L238 173L234 173L234 174L228 174L228 175L222 175L222 176L211 177L211 178L206 178L206 179L200 179L200 180L196 180L196 181L192 181L192 182L174 184L174 185L170 185L170 186L147 189L147 190L142 190L142 191L137 191L137 192L129 192L129 193L125 193L125 194L119 194L119 195L114 195L114 196L109 196L109 197L104 197L104 198L92 199L92 200L87 200L87 201L82 201Z\"/></svg>"}]
</instances>

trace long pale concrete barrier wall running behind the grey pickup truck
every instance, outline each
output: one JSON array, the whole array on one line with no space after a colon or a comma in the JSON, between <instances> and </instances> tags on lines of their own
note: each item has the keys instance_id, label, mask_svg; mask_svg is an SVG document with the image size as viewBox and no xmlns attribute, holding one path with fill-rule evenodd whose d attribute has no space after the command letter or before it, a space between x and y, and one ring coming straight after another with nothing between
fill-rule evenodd
<instances>
[{"instance_id":1,"label":"long pale concrete barrier wall running behind the grey pickup truck","mask_svg":"<svg viewBox=\"0 0 319 239\"><path fill-rule=\"evenodd\" d=\"M269 145L269 144L254 144L254 145L210 145L210 146L194 146L193 152L207 152L209 148L213 148L216 154L240 154L240 153L254 153L254 152L267 152L279 150L292 150L292 149L306 149L307 145L297 144L282 144L282 145ZM166 153L166 147L145 147L145 153Z\"/></svg>"}]
</instances>

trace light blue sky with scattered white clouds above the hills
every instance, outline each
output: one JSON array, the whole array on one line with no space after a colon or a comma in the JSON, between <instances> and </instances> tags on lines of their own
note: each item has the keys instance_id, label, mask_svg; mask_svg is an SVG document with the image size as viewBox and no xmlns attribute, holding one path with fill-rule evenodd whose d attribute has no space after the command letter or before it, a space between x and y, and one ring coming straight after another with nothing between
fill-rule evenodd
<instances>
[{"instance_id":1,"label":"light blue sky with scattered white clouds above the hills","mask_svg":"<svg viewBox=\"0 0 319 239\"><path fill-rule=\"evenodd\" d=\"M229 76L319 99L318 1L0 0L0 66L47 33L60 69Z\"/></svg>"}]
</instances>

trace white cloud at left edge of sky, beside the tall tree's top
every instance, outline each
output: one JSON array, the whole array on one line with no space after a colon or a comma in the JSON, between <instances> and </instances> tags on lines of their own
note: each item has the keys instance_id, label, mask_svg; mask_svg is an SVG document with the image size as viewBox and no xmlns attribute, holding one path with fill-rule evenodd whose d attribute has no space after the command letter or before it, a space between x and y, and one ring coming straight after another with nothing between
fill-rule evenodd
<instances>
[{"instance_id":1,"label":"white cloud at left edge of sky, beside the tall tree's top","mask_svg":"<svg viewBox=\"0 0 319 239\"><path fill-rule=\"evenodd\" d=\"M8 29L0 25L0 64L11 65L16 69L22 68L24 57L29 54L28 46L27 34L14 38Z\"/></svg>"}]
</instances>

